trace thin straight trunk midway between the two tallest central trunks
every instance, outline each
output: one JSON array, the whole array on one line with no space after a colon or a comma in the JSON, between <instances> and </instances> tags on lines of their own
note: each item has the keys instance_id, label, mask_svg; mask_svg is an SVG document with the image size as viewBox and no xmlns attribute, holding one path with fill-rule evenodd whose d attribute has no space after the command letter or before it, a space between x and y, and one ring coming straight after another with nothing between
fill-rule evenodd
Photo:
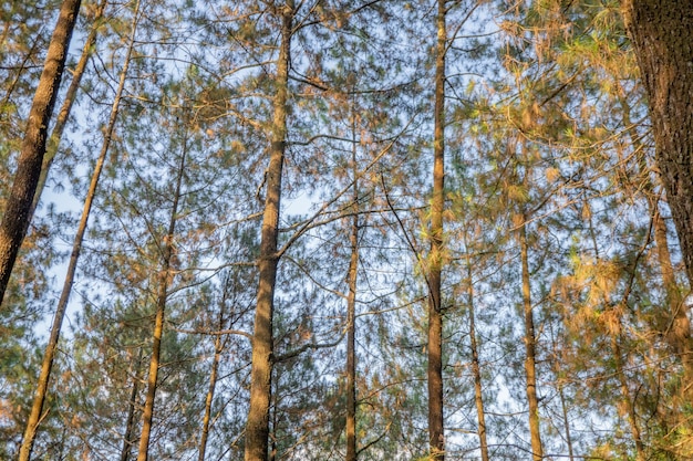
<instances>
[{"instance_id":1,"label":"thin straight trunk midway between the two tallest central trunks","mask_svg":"<svg viewBox=\"0 0 693 461\"><path fill-rule=\"evenodd\" d=\"M356 126L352 114L353 217L351 221L351 259L349 260L349 295L346 296L346 458L356 461L356 283L359 276L359 180L356 167Z\"/></svg>"}]
</instances>

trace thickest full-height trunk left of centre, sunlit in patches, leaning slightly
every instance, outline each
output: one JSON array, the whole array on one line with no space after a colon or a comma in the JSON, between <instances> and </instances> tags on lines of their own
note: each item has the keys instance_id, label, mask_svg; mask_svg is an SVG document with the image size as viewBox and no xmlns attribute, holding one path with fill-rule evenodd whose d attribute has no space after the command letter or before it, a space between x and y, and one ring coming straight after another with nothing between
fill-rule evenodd
<instances>
[{"instance_id":1,"label":"thickest full-height trunk left of centre, sunlit in patches, leaning slightly","mask_svg":"<svg viewBox=\"0 0 693 461\"><path fill-rule=\"evenodd\" d=\"M262 213L259 283L252 339L250 371L250 405L246 426L246 461L266 461L269 437L269 404L272 375L272 314L277 280L277 237L281 199L281 171L287 138L287 104L289 85L289 55L294 14L293 0L281 9L281 43L277 57L277 94L273 102L270 159L267 168L267 195Z\"/></svg>"}]
</instances>

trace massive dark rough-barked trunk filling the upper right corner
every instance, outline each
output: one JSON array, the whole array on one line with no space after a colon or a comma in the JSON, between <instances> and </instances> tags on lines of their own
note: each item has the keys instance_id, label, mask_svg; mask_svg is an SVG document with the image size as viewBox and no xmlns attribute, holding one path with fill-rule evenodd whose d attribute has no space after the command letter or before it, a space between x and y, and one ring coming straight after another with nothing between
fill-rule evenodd
<instances>
[{"instance_id":1,"label":"massive dark rough-barked trunk filling the upper right corner","mask_svg":"<svg viewBox=\"0 0 693 461\"><path fill-rule=\"evenodd\" d=\"M622 0L650 103L656 160L693 286L693 2Z\"/></svg>"}]
</instances>

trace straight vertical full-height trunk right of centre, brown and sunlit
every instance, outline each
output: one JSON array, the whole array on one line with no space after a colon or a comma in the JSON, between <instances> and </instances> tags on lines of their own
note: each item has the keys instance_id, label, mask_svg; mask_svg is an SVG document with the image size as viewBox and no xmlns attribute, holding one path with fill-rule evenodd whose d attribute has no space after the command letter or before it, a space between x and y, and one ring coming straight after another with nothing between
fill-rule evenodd
<instances>
[{"instance_id":1,"label":"straight vertical full-height trunk right of centre, brown and sunlit","mask_svg":"<svg viewBox=\"0 0 693 461\"><path fill-rule=\"evenodd\" d=\"M445 459L443 428L443 210L445 207L445 1L438 0L435 57L435 126L433 135L433 200L431 203L431 255L428 269L428 446L431 458Z\"/></svg>"}]
</instances>

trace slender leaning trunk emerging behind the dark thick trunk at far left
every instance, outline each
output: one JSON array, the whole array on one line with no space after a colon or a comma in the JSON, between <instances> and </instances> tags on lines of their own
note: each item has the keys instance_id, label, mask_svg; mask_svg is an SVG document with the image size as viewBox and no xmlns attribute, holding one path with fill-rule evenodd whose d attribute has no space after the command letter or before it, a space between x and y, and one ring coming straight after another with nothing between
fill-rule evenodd
<instances>
[{"instance_id":1,"label":"slender leaning trunk emerging behind the dark thick trunk at far left","mask_svg":"<svg viewBox=\"0 0 693 461\"><path fill-rule=\"evenodd\" d=\"M72 105L74 104L77 91L80 90L80 83L82 82L84 70L86 69L86 64L89 64L92 53L94 52L96 35L99 34L99 28L101 27L101 19L103 18L103 12L106 9L107 3L108 0L101 0L101 3L94 13L94 24L86 36L86 41L82 48L82 55L80 56L77 65L74 67L74 72L72 73L72 81L70 82L70 86L65 93L65 99L63 101L60 112L58 113L58 117L55 118L55 126L51 132L45 155L43 156L43 165L41 167L39 182L37 184L37 191L33 196L31 209L29 210L29 220L33 218L33 213L39 206L39 201L41 200L41 195L43 193L43 188L45 187L45 180L51 165L53 164L53 159L55 158L55 154L58 154L58 147L60 146L60 140L62 139L65 126L68 125L68 118L72 112Z\"/></svg>"}]
</instances>

